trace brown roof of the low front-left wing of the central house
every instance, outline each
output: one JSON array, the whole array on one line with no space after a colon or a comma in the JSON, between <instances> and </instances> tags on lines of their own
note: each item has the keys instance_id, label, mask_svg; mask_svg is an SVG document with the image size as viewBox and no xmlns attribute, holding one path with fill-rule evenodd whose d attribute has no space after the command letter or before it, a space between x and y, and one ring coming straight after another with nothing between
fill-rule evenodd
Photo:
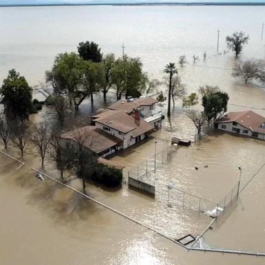
<instances>
[{"instance_id":1,"label":"brown roof of the low front-left wing of the central house","mask_svg":"<svg viewBox=\"0 0 265 265\"><path fill-rule=\"evenodd\" d=\"M85 126L79 129L71 130L68 133L61 135L63 139L71 139L72 141L84 141L83 146L92 150L92 152L99 154L104 150L108 150L112 146L116 146L122 140L105 133L103 130L95 126Z\"/></svg>"}]
</instances>

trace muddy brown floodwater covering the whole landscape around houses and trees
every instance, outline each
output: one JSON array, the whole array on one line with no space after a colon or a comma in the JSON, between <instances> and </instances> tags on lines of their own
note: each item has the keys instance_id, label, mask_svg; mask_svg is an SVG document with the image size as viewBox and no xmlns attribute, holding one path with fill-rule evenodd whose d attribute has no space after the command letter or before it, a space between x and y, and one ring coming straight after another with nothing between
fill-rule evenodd
<instances>
[{"instance_id":1,"label":"muddy brown floodwater covering the whole landscape around houses and trees","mask_svg":"<svg viewBox=\"0 0 265 265\"><path fill-rule=\"evenodd\" d=\"M233 55L216 54L220 28L221 51L226 49L226 35L243 30L251 40L240 59L264 58L265 47L260 40L264 11L264 7L209 6L0 8L0 79L10 68L16 68L34 86L52 66L55 55L76 50L79 41L95 41L103 52L115 52L117 56L121 55L124 42L126 53L141 57L152 77L161 78L166 63L177 62L179 55L185 54L189 64L179 69L179 75L188 92L196 92L205 84L217 85L230 96L229 111L251 109L265 115L264 88L245 86L233 79ZM202 59L204 50L206 61ZM200 57L195 65L193 55ZM114 101L114 95L110 94L108 100ZM68 128L86 124L85 116L101 108L102 102L101 95L95 97L94 106L85 101L81 115L68 118ZM161 106L166 110L166 103ZM195 128L185 112L177 102L171 119L165 119L162 130L153 136L193 139ZM34 115L32 119L39 120L39 116L47 117ZM241 187L262 167L264 147L262 141L210 132L202 141L179 148L172 161L157 168L155 181L219 202L237 183L237 166L243 168ZM155 139L150 138L112 159L126 166L126 177L128 170L153 155L154 148ZM164 148L166 144L159 141L157 152ZM1 264L264 264L261 257L187 253L164 237L84 201L66 188L32 178L30 168L39 168L36 156L28 155L26 165L19 170L17 166L17 162L0 156ZM46 165L46 170L57 174L52 165ZM262 175L264 170L244 188L237 204L206 233L206 244L265 252ZM78 181L72 185L79 188ZM174 190L169 194L172 208L167 206L168 190L159 193L160 199L129 190L126 185L113 191L91 184L88 192L172 238L187 233L198 235L211 222L195 210L175 206ZM250 238L255 240L249 242Z\"/></svg>"}]
</instances>

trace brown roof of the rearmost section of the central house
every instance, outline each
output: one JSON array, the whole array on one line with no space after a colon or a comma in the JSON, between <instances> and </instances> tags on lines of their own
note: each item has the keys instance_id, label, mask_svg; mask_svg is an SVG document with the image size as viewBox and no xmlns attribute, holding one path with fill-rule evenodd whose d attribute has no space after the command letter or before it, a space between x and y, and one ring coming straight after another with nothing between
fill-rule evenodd
<instances>
[{"instance_id":1,"label":"brown roof of the rearmost section of the central house","mask_svg":"<svg viewBox=\"0 0 265 265\"><path fill-rule=\"evenodd\" d=\"M139 99L130 99L130 101L120 99L115 102L115 104L108 106L108 108L110 110L125 110L128 114L130 114L135 108L139 108L141 106L152 106L157 102L157 99L153 99L153 97L140 97Z\"/></svg>"}]
</instances>

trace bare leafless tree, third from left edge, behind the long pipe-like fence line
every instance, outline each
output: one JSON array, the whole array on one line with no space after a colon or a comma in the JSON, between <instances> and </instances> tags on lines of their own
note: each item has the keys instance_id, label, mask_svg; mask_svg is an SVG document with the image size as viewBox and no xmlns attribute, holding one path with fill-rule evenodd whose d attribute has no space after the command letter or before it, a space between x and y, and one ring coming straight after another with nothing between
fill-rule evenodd
<instances>
[{"instance_id":1,"label":"bare leafless tree, third from left edge, behind the long pipe-like fence line","mask_svg":"<svg viewBox=\"0 0 265 265\"><path fill-rule=\"evenodd\" d=\"M30 140L41 156L41 166L44 167L44 159L51 140L50 126L47 122L41 122L32 126Z\"/></svg>"}]
</instances>

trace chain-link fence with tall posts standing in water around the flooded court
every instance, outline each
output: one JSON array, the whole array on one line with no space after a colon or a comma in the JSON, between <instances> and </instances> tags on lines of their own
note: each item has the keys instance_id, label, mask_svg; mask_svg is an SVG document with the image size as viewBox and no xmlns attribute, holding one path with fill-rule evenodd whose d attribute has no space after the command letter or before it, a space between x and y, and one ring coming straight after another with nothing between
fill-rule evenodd
<instances>
[{"instance_id":1,"label":"chain-link fence with tall posts standing in water around the flooded court","mask_svg":"<svg viewBox=\"0 0 265 265\"><path fill-rule=\"evenodd\" d=\"M152 155L146 161L128 171L128 178L137 179L140 183L155 187L155 199L168 206L190 208L213 218L220 217L235 202L239 192L239 182L220 202L204 199L187 191L176 188L174 184L166 184L157 178L162 166L170 163L177 146L169 146Z\"/></svg>"}]
</instances>

